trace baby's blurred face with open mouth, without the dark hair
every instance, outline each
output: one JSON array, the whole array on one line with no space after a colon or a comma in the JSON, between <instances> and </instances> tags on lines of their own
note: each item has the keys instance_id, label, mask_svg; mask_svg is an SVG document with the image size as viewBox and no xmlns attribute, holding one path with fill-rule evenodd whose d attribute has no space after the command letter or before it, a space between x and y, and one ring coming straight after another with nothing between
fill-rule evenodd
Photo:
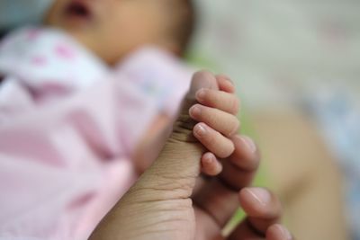
<instances>
[{"instance_id":1,"label":"baby's blurred face with open mouth, without the dark hair","mask_svg":"<svg viewBox=\"0 0 360 240\"><path fill-rule=\"evenodd\" d=\"M45 18L114 64L145 44L165 46L164 20L156 1L57 0ZM159 12L160 11L160 12Z\"/></svg>"}]
</instances>

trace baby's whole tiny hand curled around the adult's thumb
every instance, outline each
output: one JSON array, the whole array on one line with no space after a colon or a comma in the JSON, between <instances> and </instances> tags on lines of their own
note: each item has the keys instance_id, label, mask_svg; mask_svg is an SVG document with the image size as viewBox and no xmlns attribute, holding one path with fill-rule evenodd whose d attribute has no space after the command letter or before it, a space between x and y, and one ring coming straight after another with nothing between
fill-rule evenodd
<instances>
[{"instance_id":1,"label":"baby's whole tiny hand curled around the adult's thumb","mask_svg":"<svg viewBox=\"0 0 360 240\"><path fill-rule=\"evenodd\" d=\"M193 120L199 121L193 128L197 138L209 152L202 156L202 172L217 175L222 165L217 160L229 157L235 150L231 138L238 133L237 118L239 100L234 84L227 76L216 76L219 90L200 89L196 93L197 104L190 108Z\"/></svg>"}]
</instances>

